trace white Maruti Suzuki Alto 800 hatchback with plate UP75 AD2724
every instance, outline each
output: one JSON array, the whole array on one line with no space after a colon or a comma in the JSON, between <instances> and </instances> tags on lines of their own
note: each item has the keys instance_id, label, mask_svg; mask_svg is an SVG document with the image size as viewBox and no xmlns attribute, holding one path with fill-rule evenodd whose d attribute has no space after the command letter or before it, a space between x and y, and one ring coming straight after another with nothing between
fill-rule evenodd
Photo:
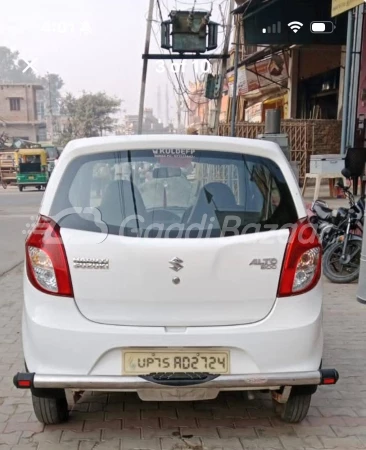
<instances>
[{"instance_id":1,"label":"white Maruti Suzuki Alto 800 hatchback with plate UP75 AD2724","mask_svg":"<svg viewBox=\"0 0 366 450\"><path fill-rule=\"evenodd\" d=\"M14 384L41 422L68 418L65 389L159 401L268 391L299 422L338 379L321 368L321 245L274 143L72 141L25 266Z\"/></svg>"}]
</instances>

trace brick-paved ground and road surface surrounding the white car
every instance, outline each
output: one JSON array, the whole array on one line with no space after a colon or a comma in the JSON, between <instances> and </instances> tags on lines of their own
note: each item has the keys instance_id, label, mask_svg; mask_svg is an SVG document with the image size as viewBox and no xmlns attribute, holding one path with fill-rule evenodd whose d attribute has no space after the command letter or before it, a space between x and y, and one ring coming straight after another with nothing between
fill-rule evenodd
<instances>
[{"instance_id":1,"label":"brick-paved ground and road surface surrounding the white car","mask_svg":"<svg viewBox=\"0 0 366 450\"><path fill-rule=\"evenodd\" d=\"M267 395L248 400L234 392L199 403L86 394L71 405L69 423L39 424L28 392L15 389L12 377L23 368L22 230L41 198L0 190L0 274L7 272L0 276L0 450L366 449L366 306L356 301L355 284L325 284L324 367L336 367L341 378L319 388L301 425L274 417Z\"/></svg>"}]
</instances>

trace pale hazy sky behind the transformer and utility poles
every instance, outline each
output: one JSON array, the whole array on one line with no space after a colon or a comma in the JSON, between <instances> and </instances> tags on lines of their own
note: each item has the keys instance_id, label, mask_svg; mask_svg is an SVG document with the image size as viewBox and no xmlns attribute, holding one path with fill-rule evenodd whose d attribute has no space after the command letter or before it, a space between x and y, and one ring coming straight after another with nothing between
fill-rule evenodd
<instances>
[{"instance_id":1,"label":"pale hazy sky behind the transformer and utility poles","mask_svg":"<svg viewBox=\"0 0 366 450\"><path fill-rule=\"evenodd\" d=\"M207 0L160 0L164 20L174 8L211 9ZM213 0L213 19L219 22L219 4L224 11L228 0ZM104 91L123 100L122 110L137 114L139 105L142 53L146 35L149 0L17 0L1 5L0 45L20 52L21 59L32 61L38 74L57 73L64 80L64 92L80 94ZM151 53L159 53L160 25L155 5ZM220 34L222 36L222 33ZM169 65L170 64L170 65ZM193 81L192 62L184 75ZM160 118L176 116L176 95L167 72L157 61L148 67L145 107L158 114L158 90L161 91ZM166 90L169 107L166 106ZM123 111L122 111L123 114Z\"/></svg>"}]
</instances>

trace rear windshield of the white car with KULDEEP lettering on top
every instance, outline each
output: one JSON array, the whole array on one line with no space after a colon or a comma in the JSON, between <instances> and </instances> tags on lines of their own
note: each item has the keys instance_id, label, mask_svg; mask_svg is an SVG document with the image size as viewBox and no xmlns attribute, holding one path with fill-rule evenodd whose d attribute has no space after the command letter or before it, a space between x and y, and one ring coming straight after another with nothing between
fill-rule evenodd
<instances>
[{"instance_id":1,"label":"rear windshield of the white car with KULDEEP lettering on top","mask_svg":"<svg viewBox=\"0 0 366 450\"><path fill-rule=\"evenodd\" d=\"M50 215L65 228L146 238L225 237L298 219L272 160L179 148L75 158Z\"/></svg>"}]
</instances>

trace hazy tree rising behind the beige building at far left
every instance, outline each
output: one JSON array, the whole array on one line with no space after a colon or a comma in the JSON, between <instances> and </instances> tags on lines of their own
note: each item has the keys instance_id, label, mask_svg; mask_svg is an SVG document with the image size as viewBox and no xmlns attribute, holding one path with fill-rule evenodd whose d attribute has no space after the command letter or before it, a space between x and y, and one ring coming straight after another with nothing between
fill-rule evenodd
<instances>
[{"instance_id":1,"label":"hazy tree rising behind the beige building at far left","mask_svg":"<svg viewBox=\"0 0 366 450\"><path fill-rule=\"evenodd\" d=\"M20 58L19 52L11 51L7 47L0 47L0 83L38 83L44 88L39 94L39 100L43 100L47 105L47 110L57 112L60 106L60 89L64 85L62 78L50 73L46 76L37 75L28 64Z\"/></svg>"}]
</instances>

